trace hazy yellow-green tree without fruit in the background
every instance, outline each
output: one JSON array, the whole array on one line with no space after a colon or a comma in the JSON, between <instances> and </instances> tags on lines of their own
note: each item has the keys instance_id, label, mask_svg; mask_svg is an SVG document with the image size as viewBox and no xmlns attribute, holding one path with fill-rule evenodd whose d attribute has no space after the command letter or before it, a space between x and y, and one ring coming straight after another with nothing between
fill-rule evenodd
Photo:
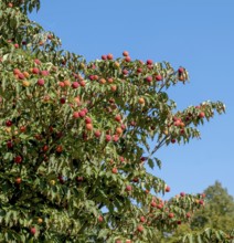
<instances>
[{"instance_id":1,"label":"hazy yellow-green tree without fruit in the background","mask_svg":"<svg viewBox=\"0 0 234 243\"><path fill-rule=\"evenodd\" d=\"M203 192L205 196L205 207L189 214L191 222L182 224L172 235L164 237L166 242L178 242L181 235L193 237L203 234L203 240L208 234L212 234L212 230L221 230L226 232L232 240L234 236L234 201L227 190L222 187L219 181L206 188ZM215 234L215 232L213 232ZM163 240L161 240L162 242ZM211 240L208 240L211 242ZM216 239L214 240L216 242Z\"/></svg>"}]
</instances>

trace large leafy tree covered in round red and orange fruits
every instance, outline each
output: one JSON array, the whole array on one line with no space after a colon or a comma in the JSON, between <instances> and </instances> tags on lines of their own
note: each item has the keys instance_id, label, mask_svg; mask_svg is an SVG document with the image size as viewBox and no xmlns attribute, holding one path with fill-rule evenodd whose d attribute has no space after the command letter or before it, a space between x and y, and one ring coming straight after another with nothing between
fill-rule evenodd
<instances>
[{"instance_id":1,"label":"large leafy tree covered in round red and orange fruits","mask_svg":"<svg viewBox=\"0 0 234 243\"><path fill-rule=\"evenodd\" d=\"M170 187L145 165L160 167L160 147L200 137L224 105L177 110L167 89L185 84L184 67L127 52L87 63L29 20L34 8L0 2L1 242L153 242L188 222L203 197L161 200Z\"/></svg>"}]
</instances>

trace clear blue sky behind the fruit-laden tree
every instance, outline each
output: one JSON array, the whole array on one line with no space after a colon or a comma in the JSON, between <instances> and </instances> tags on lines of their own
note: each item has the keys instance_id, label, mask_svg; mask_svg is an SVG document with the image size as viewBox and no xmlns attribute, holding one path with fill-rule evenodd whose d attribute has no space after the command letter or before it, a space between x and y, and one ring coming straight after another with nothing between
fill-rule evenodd
<instances>
[{"instance_id":1,"label":"clear blue sky behind the fruit-laden tree","mask_svg":"<svg viewBox=\"0 0 234 243\"><path fill-rule=\"evenodd\" d=\"M215 180L234 196L233 11L233 0L42 0L31 18L87 60L127 50L132 59L185 66L191 82L170 91L178 107L223 101L226 115L201 127L201 140L162 148L162 170L153 173L171 187L170 197L201 192Z\"/></svg>"}]
</instances>

